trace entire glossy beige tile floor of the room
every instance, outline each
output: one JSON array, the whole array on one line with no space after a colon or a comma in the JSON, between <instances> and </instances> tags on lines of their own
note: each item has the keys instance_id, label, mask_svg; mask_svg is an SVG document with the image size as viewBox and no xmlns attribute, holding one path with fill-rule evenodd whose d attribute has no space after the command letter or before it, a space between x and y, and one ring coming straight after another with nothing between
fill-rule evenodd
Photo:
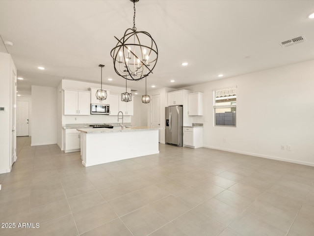
<instances>
[{"instance_id":1,"label":"entire glossy beige tile floor of the room","mask_svg":"<svg viewBox=\"0 0 314 236\"><path fill-rule=\"evenodd\" d=\"M160 145L85 168L79 152L30 147L1 174L0 236L313 236L314 168Z\"/></svg>"}]
</instances>

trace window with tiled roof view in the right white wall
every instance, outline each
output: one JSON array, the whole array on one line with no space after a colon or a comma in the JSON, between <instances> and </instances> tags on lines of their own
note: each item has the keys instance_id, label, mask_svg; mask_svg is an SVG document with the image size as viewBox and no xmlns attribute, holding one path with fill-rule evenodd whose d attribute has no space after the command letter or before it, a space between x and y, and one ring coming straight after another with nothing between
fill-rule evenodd
<instances>
[{"instance_id":1,"label":"window with tiled roof view in the right white wall","mask_svg":"<svg viewBox=\"0 0 314 236\"><path fill-rule=\"evenodd\" d=\"M236 124L236 87L214 90L215 126Z\"/></svg>"}]
</instances>

